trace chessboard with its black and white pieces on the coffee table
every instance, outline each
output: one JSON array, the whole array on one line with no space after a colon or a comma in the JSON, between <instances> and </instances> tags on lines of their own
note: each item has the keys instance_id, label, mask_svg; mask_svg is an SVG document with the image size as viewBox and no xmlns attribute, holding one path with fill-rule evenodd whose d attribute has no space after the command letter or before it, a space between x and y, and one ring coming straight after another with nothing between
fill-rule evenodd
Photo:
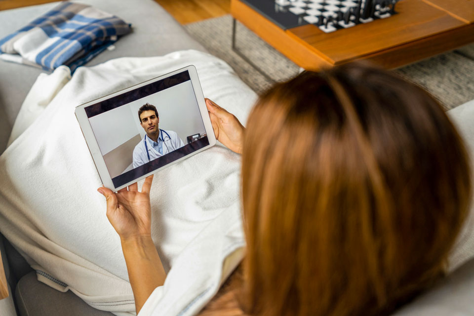
<instances>
[{"instance_id":1,"label":"chessboard with its black and white pieces on the coffee table","mask_svg":"<svg viewBox=\"0 0 474 316\"><path fill-rule=\"evenodd\" d=\"M398 0L275 0L280 14L298 16L299 24L314 24L325 33L385 19L394 14ZM304 23L305 21L306 23Z\"/></svg>"}]
</instances>

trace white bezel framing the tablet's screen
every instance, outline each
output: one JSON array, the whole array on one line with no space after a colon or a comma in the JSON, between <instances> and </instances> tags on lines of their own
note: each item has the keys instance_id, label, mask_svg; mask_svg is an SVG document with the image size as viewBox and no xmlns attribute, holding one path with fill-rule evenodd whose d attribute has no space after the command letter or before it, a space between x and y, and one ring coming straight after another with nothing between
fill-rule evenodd
<instances>
[{"instance_id":1,"label":"white bezel framing the tablet's screen","mask_svg":"<svg viewBox=\"0 0 474 316\"><path fill-rule=\"evenodd\" d=\"M159 168L157 168L157 169L155 169L155 170L153 170L149 173L144 174L143 176L140 176L140 177L138 177L138 178L136 178L136 179L134 179L130 182L127 182L126 184L115 187L115 185L112 181L112 178L109 174L109 170L107 168L107 165L105 164L105 160L104 160L104 158L102 156L102 153L100 151L99 144L97 143L94 132L93 132L92 127L90 125L89 118L87 118L85 108L88 107L88 106L94 105L96 103L102 102L104 100L116 97L116 96L118 96L120 94L123 94L123 93L126 93L128 91L138 89L138 88L140 88L144 85L153 83L153 82L158 81L158 80L165 79L167 77L170 77L170 76L173 76L173 75L179 74L181 72L185 72L185 71L188 71L189 77L191 79L191 84L193 86L194 94L195 94L195 97L196 97L196 100L197 100L197 106L199 108L199 114L201 116L202 122L204 123L204 128L205 128L205 131L206 131L206 134L207 134L207 139L209 141L209 145L204 146L204 147L196 150L195 152L190 153L190 154L188 154L184 157L181 157L181 158L178 158L174 161L171 161L171 162L167 163L164 166L161 166L161 167L159 167ZM98 98L98 99L89 101L87 103L81 104L78 107L76 107L75 114L76 114L76 118L79 121L79 126L80 126L80 129L82 131L82 134L84 135L87 147L89 148L90 155L92 156L92 159L94 160L94 164L95 164L95 167L97 169L97 172L99 173L99 177L100 177L100 180L102 182L102 185L106 188L109 188L109 189L115 191L115 192L117 192L118 190L120 190L122 188L126 188L127 186L129 186L129 185L131 185L131 184L133 184L137 181L140 181L140 180L148 177L149 175L158 172L159 170L161 170L163 168L166 168L166 167L168 167L170 165L173 165L177 162L180 162L180 161L182 161L186 158L189 158L193 155L196 155L197 153L202 152L203 150L208 149L208 148L210 148L210 147L212 147L216 144L216 137L214 135L214 129L212 128L211 120L209 118L209 113L207 112L207 107L206 107L206 103L205 103L205 100L204 100L204 95L202 93L201 85L199 83L199 79L198 79L198 76L197 76L197 70L196 70L196 67L194 65L190 65L190 66L178 69L178 70L173 71L171 73L168 73L168 74L165 74L165 75L162 75L162 76L159 76L159 77L156 77L156 78L153 78L153 79L135 84L131 87L122 89L120 91L111 93L111 94L103 96L101 98Z\"/></svg>"}]
</instances>

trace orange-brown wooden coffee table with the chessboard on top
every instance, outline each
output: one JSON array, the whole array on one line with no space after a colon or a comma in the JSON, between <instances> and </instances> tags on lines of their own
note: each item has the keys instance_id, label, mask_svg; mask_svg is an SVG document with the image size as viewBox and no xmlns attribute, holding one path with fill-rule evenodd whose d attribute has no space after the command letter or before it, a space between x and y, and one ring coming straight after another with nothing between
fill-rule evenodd
<instances>
[{"instance_id":1,"label":"orange-brown wooden coffee table with the chessboard on top","mask_svg":"<svg viewBox=\"0 0 474 316\"><path fill-rule=\"evenodd\" d=\"M401 0L395 9L390 18L324 33L312 24L283 30L245 0L231 2L234 19L307 70L360 59L392 69L474 42L474 0Z\"/></svg>"}]
</instances>

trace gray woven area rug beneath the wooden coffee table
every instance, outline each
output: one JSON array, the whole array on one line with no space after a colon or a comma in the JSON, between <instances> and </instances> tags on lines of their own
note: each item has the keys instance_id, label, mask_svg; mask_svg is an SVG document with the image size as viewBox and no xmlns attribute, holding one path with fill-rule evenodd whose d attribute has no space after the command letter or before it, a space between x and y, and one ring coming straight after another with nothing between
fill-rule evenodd
<instances>
[{"instance_id":1,"label":"gray woven area rug beneath the wooden coffee table","mask_svg":"<svg viewBox=\"0 0 474 316\"><path fill-rule=\"evenodd\" d=\"M272 85L232 50L232 16L185 25L188 32L209 52L225 60L255 92ZM276 81L298 74L300 68L252 31L237 22L236 45L247 58ZM474 99L474 44L395 70L403 78L421 85L446 110Z\"/></svg>"}]
</instances>

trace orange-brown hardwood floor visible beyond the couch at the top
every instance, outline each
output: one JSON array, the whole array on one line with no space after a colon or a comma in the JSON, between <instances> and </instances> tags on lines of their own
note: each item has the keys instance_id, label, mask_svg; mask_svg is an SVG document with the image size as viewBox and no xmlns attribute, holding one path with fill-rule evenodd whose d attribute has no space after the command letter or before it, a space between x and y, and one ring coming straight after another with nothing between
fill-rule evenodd
<instances>
[{"instance_id":1,"label":"orange-brown hardwood floor visible beyond the couch at the top","mask_svg":"<svg viewBox=\"0 0 474 316\"><path fill-rule=\"evenodd\" d=\"M57 0L0 0L0 10ZM155 0L181 24L229 14L231 0Z\"/></svg>"}]
</instances>

